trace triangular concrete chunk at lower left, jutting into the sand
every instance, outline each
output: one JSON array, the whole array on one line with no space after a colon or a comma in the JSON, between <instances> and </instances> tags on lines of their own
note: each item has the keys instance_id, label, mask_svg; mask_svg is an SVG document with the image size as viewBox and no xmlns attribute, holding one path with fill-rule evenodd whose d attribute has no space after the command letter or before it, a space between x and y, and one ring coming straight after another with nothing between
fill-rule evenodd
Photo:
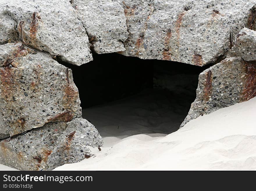
<instances>
[{"instance_id":1,"label":"triangular concrete chunk at lower left, jutting into the sand","mask_svg":"<svg viewBox=\"0 0 256 191\"><path fill-rule=\"evenodd\" d=\"M77 163L92 156L90 147L102 147L102 145L102 137L93 124L86 119L73 119L67 123L67 128L58 139L47 164L53 169L66 163Z\"/></svg>"}]
</instances>

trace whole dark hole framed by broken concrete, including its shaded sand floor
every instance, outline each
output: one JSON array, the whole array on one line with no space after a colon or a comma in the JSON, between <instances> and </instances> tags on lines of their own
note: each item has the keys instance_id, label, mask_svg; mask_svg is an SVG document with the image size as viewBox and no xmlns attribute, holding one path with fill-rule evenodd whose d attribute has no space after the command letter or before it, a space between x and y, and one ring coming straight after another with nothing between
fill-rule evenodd
<instances>
[{"instance_id":1,"label":"whole dark hole framed by broken concrete, including its shaded sand floor","mask_svg":"<svg viewBox=\"0 0 256 191\"><path fill-rule=\"evenodd\" d=\"M103 137L176 131L196 97L199 67L165 60L142 60L118 53L93 54L74 66L83 118Z\"/></svg>"}]
</instances>

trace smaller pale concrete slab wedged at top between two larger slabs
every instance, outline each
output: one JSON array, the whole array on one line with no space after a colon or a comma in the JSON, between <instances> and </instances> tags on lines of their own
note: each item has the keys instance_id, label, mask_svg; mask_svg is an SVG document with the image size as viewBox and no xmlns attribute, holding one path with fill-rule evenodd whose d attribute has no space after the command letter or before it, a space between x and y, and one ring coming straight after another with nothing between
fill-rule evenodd
<instances>
[{"instance_id":1,"label":"smaller pale concrete slab wedged at top between two larger slabs","mask_svg":"<svg viewBox=\"0 0 256 191\"><path fill-rule=\"evenodd\" d=\"M125 51L123 42L129 33L124 10L119 3L111 0L72 2L96 53Z\"/></svg>"}]
</instances>

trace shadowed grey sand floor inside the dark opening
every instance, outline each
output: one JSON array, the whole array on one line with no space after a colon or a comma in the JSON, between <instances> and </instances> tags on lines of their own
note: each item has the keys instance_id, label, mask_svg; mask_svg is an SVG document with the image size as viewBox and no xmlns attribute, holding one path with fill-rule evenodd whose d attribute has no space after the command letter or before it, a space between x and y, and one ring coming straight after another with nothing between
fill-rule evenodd
<instances>
[{"instance_id":1,"label":"shadowed grey sand floor inside the dark opening","mask_svg":"<svg viewBox=\"0 0 256 191\"><path fill-rule=\"evenodd\" d=\"M94 124L102 137L167 135L177 131L186 117L194 99L189 96L190 99L188 94L148 89L132 97L84 109L83 118Z\"/></svg>"}]
</instances>

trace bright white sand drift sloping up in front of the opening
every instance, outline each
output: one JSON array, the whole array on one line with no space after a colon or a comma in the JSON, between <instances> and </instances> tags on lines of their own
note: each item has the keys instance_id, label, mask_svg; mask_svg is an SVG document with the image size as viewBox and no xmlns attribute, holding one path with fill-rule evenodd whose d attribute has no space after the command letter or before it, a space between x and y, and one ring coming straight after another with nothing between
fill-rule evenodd
<instances>
[{"instance_id":1,"label":"bright white sand drift sloping up in front of the opening","mask_svg":"<svg viewBox=\"0 0 256 191\"><path fill-rule=\"evenodd\" d=\"M146 120L150 118L148 112L153 110L145 110L145 115L139 112L140 116L146 116L146 123L135 123L134 127L130 121L131 116L125 119L116 116L112 121L109 117L117 115L114 111L108 114L104 113L104 109L100 110L100 107L98 110L92 108L99 112L97 118L89 116L89 113L84 113L87 115L84 117L98 126L99 132L104 136L102 151L95 148L95 157L63 165L55 170L256 170L255 106L256 97L200 116L180 130L164 137L163 134L150 134L150 131L159 132L160 127L165 127L162 120L165 117L157 123ZM132 108L134 107L131 106L131 110ZM124 112L121 108L119 110L120 115L128 114L128 111ZM168 112L167 115L170 114ZM161 116L165 116L164 113L161 113ZM138 115L134 118L138 121L143 119ZM167 120L166 123L167 126L172 124L171 120ZM148 124L153 125L147 126ZM120 126L118 130L117 125ZM139 129L142 126L146 126L143 131L146 130L148 135L129 136L142 131ZM111 128L104 129L106 127ZM111 133L116 134L108 137ZM0 169L3 168L6 167L0 166Z\"/></svg>"}]
</instances>

